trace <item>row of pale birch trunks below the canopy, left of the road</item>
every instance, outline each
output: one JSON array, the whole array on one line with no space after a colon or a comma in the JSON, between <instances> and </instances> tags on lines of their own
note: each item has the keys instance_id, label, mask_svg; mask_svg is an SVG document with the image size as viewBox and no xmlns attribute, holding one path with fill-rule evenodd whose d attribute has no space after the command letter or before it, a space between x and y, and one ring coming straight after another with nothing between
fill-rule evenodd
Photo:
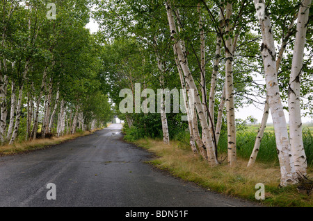
<instances>
[{"instance_id":1,"label":"row of pale birch trunks below the canopy, left of the road","mask_svg":"<svg viewBox=\"0 0 313 221\"><path fill-rule=\"evenodd\" d=\"M6 60L3 60L6 65ZM15 70L15 62L12 67L5 67L6 71ZM28 67L25 67L26 75ZM86 122L81 105L74 108L69 101L60 100L60 90L53 87L53 78L47 79L47 67L42 74L40 91L35 91L33 82L26 93L23 91L24 85L15 85L14 79L9 79L8 75L0 76L1 84L1 121L0 136L1 143L12 144L17 139L19 125L22 118L22 100L26 100L26 140L38 138L38 126L41 126L40 138L45 138L46 134L63 136L64 134L74 134L79 130L95 130L102 123L97 119ZM8 84L10 83L10 88ZM56 83L58 85L58 83ZM10 89L10 105L7 103L8 89ZM23 94L24 92L24 94ZM25 97L23 97L23 95ZM76 98L75 98L76 101ZM43 109L40 112L40 109ZM41 116L40 116L41 114ZM6 119L9 118L9 123ZM102 125L103 126L103 125Z\"/></svg>"}]
</instances>

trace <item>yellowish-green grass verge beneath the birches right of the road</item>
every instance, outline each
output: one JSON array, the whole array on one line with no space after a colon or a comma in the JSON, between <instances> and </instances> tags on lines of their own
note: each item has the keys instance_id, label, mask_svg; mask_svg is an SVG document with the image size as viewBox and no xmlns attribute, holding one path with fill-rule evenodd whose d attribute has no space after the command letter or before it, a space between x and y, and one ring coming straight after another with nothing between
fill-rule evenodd
<instances>
[{"instance_id":1,"label":"yellowish-green grass verge beneath the birches right of the road","mask_svg":"<svg viewBox=\"0 0 313 221\"><path fill-rule=\"evenodd\" d=\"M275 163L255 163L247 168L248 160L237 159L235 167L227 163L210 168L201 157L193 155L188 146L179 141L171 141L164 145L154 139L139 139L134 144L157 155L157 159L148 161L157 168L168 170L175 177L195 182L211 191L259 202L265 206L313 206L313 197L298 193L296 186L279 188L280 168ZM313 176L312 168L308 169L308 177ZM255 184L265 186L265 200L255 200Z\"/></svg>"}]
</instances>

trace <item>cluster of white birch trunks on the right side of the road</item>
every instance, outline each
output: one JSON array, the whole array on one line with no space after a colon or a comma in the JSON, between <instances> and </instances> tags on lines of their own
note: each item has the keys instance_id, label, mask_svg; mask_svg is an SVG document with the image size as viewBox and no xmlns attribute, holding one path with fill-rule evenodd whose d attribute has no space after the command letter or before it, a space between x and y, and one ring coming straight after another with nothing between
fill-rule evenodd
<instances>
[{"instance_id":1,"label":"cluster of white birch trunks on the right side of the road","mask_svg":"<svg viewBox=\"0 0 313 221\"><path fill-rule=\"evenodd\" d=\"M245 1L243 1L243 4ZM259 3L264 1L255 0L256 11L260 9ZM210 8L206 1L202 1L204 8L210 13ZM264 107L264 116L261 127L256 137L255 147L253 148L248 166L252 166L259 151L259 145L264 134L268 114L271 111L273 125L275 129L276 146L281 171L281 186L295 184L298 182L299 175L306 175L307 162L303 148L302 140L302 123L300 115L300 75L303 67L303 51L305 47L305 35L307 30L307 21L309 18L311 0L303 0L298 9L298 17L291 22L289 30L285 33L280 47L278 56L275 54L275 42L271 32L271 17L268 12L264 13L264 17L259 17L259 27L262 33L261 55L264 64L264 74L266 78L266 103ZM188 67L188 60L184 40L179 39L177 33L181 30L179 23L179 10L172 5L172 1L166 1L166 12L168 17L169 31L174 47L174 56L177 64L177 70L181 81L182 88L185 90L184 103L188 115L188 128L190 132L190 145L195 154L201 154L207 159L209 165L217 166L217 144L220 135L220 127L224 105L226 107L227 118L227 161L230 166L236 165L236 125L235 125L235 109L234 109L234 82L232 65L234 60L234 52L236 51L236 42L239 35L226 35L234 32L236 24L230 23L232 17L232 3L226 1L220 7L219 24L216 28L216 56L214 60L214 71L211 73L211 88L209 93L209 102L207 102L207 89L205 88L205 53L204 53L204 32L202 28L202 17L200 3L198 4L198 16L200 26L200 72L201 72L201 90L195 85L193 75ZM243 7L243 5L241 6ZM241 11L241 10L239 10ZM283 112L283 105L280 98L278 87L278 69L282 60L282 55L286 48L291 28L296 21L296 38L294 43L294 53L292 59L292 67L289 81L289 132L287 131L287 122ZM227 36L227 37L225 37ZM220 51L225 47L225 85L223 96L220 98L218 107L217 122L214 122L214 100L216 99L216 76L218 65L220 63ZM159 64L159 63L158 63ZM159 64L159 69L161 65ZM194 91L194 105L191 103L191 93ZM200 93L201 92L201 93ZM202 97L200 96L202 95ZM196 114L192 114L195 112ZM166 113L161 112L163 141L169 143L168 127L166 122ZM202 127L202 134L199 134L198 121Z\"/></svg>"}]
</instances>

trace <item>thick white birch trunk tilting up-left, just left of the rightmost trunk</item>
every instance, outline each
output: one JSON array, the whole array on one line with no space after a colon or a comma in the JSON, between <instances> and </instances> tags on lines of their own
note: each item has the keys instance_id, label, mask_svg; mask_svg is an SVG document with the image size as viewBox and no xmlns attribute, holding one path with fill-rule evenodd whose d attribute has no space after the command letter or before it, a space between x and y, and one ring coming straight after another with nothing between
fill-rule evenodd
<instances>
[{"instance_id":1,"label":"thick white birch trunk tilting up-left, just left of the rightmost trunk","mask_svg":"<svg viewBox=\"0 0 313 221\"><path fill-rule=\"evenodd\" d=\"M255 8L257 8L259 0L255 0L254 2ZM263 0L262 3L264 3ZM275 62L275 43L271 32L271 20L267 12L265 13L264 19L259 19L259 24L262 31L263 43L261 46L261 54L266 78L268 105L271 109L278 159L280 161L280 185L287 186L288 184L295 184L297 177L289 145L286 118L284 117L283 106L280 100Z\"/></svg>"}]
</instances>

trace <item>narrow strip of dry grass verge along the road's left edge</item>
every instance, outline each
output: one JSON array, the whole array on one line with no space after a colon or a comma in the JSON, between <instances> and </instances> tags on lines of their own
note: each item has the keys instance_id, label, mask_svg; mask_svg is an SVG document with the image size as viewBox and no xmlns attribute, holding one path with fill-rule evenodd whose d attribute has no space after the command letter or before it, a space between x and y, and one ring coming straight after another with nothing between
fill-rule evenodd
<instances>
[{"instance_id":1,"label":"narrow strip of dry grass verge along the road's left edge","mask_svg":"<svg viewBox=\"0 0 313 221\"><path fill-rule=\"evenodd\" d=\"M10 145L3 145L3 146L0 146L0 156L29 152L31 150L44 149L47 146L63 143L65 141L75 139L79 136L86 136L88 134L93 134L93 132L97 130L101 130L101 129L96 129L93 131L77 132L75 134L65 134L64 136L53 137L51 139L35 139L31 141L22 141L20 143L13 143Z\"/></svg>"}]
</instances>

